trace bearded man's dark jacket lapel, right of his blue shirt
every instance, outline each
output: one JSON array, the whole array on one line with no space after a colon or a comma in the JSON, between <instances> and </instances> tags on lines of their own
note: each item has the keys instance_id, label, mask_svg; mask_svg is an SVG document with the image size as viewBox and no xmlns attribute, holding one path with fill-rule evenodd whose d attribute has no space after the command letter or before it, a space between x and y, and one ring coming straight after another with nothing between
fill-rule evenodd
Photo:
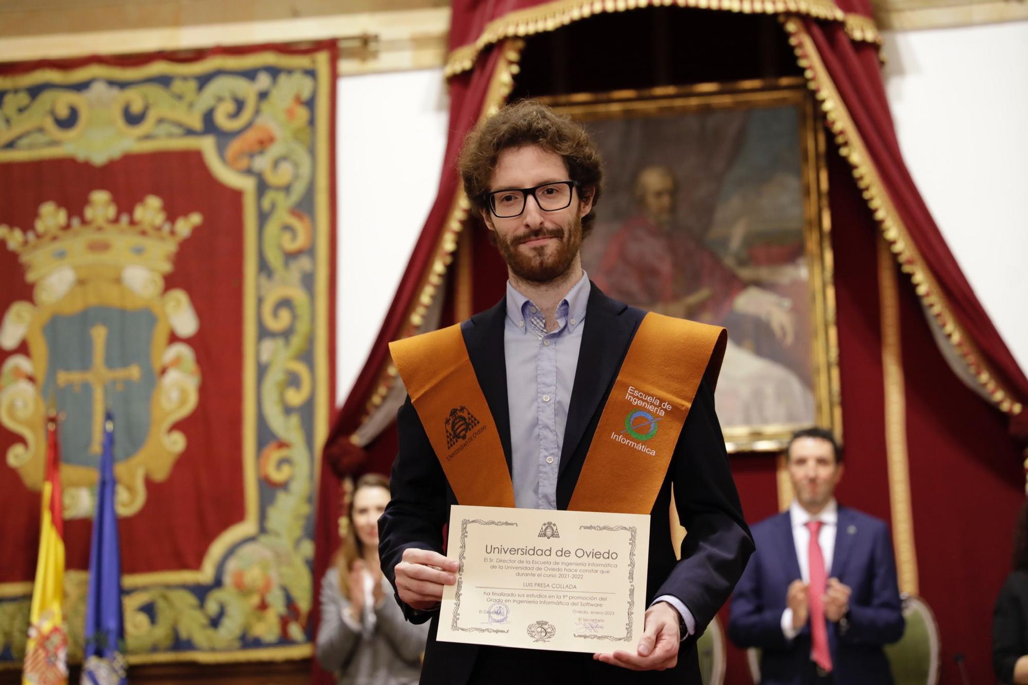
<instances>
[{"instance_id":1,"label":"bearded man's dark jacket lapel, right of his blue shirt","mask_svg":"<svg viewBox=\"0 0 1028 685\"><path fill-rule=\"evenodd\" d=\"M600 402L607 398L635 333L638 321L625 316L627 310L627 304L611 299L595 284L591 284L575 386L564 426L564 443L560 449L558 478L567 469Z\"/></svg>"}]
</instances>

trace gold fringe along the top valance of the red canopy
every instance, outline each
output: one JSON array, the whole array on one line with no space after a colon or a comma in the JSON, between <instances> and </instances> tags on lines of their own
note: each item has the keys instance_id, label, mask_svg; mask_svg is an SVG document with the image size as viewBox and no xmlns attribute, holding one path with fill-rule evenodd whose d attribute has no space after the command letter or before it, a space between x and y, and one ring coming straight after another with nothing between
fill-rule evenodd
<instances>
[{"instance_id":1,"label":"gold fringe along the top valance of the red canopy","mask_svg":"<svg viewBox=\"0 0 1028 685\"><path fill-rule=\"evenodd\" d=\"M467 45L454 48L446 58L444 74L450 78L471 69L487 45L505 38L548 33L594 14L623 12L645 7L695 7L720 9L743 14L806 14L821 20L845 22L850 38L881 44L881 35L873 20L847 14L833 0L553 0L534 7L508 12L485 25L481 35ZM852 20L850 19L852 17Z\"/></svg>"}]
</instances>

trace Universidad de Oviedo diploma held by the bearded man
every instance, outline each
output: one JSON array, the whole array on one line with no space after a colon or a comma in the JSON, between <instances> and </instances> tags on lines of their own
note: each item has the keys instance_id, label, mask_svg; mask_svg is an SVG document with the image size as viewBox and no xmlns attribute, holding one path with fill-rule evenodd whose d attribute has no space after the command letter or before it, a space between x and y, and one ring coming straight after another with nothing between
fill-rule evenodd
<instances>
[{"instance_id":1,"label":"Universidad de Oviedo diploma held by the bearded man","mask_svg":"<svg viewBox=\"0 0 1028 685\"><path fill-rule=\"evenodd\" d=\"M450 508L437 639L572 652L634 651L646 612L650 516Z\"/></svg>"}]
</instances>

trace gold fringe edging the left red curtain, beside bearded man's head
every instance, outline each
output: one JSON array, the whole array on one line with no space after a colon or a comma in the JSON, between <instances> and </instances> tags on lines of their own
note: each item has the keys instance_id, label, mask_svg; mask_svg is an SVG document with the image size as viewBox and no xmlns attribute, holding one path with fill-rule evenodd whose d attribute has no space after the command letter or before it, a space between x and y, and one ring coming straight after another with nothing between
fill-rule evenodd
<instances>
[{"instance_id":1,"label":"gold fringe edging the left red curtain, beside bearded man's head","mask_svg":"<svg viewBox=\"0 0 1028 685\"><path fill-rule=\"evenodd\" d=\"M518 62L521 60L521 50L523 48L524 41L516 38L508 40L501 48L503 52L500 56L495 71L492 73L492 79L489 81L489 86L486 89L485 100L482 103L482 112L478 118L479 122L495 114L500 111L504 103L507 102L507 98L514 88L514 77L521 70ZM414 298L411 304L410 311L407 314L407 321L400 330L399 338L410 337L417 333L418 329L425 323L425 315L428 313L432 302L441 294L440 288L443 284L443 278L446 276L449 265L453 263L453 253L457 249L461 231L464 229L470 212L471 202L464 193L464 187L458 184L453 203L450 206L449 215L443 224L439 242L436 244L432 266L421 278L419 295ZM397 375L396 365L390 360L386 368L379 372L375 391L365 405L366 411L361 418L362 425L375 409L381 406L381 403L386 400L386 396L389 395L390 389L396 382ZM351 441L353 441L353 437Z\"/></svg>"}]
</instances>

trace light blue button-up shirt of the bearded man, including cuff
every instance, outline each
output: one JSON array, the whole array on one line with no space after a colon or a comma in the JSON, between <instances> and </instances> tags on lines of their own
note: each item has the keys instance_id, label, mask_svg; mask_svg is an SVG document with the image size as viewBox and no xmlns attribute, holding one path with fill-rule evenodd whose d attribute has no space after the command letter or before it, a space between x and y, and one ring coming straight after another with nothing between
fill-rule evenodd
<instances>
[{"instance_id":1,"label":"light blue button-up shirt of the bearded man, including cuff","mask_svg":"<svg viewBox=\"0 0 1028 685\"><path fill-rule=\"evenodd\" d=\"M504 354L516 507L557 508L560 450L590 289L589 277L583 272L557 304L556 327L547 332L542 311L507 282ZM654 600L657 602L667 602L678 611L688 635L696 632L696 619L681 600L663 594Z\"/></svg>"}]
</instances>

